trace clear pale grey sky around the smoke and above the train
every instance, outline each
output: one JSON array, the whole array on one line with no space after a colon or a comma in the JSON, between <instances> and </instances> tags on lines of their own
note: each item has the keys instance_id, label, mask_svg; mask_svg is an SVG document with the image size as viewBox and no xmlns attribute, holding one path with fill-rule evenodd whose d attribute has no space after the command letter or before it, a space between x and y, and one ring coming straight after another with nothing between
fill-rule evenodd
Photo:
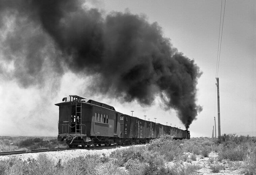
<instances>
[{"instance_id":1,"label":"clear pale grey sky around the smoke and above the train","mask_svg":"<svg viewBox=\"0 0 256 175\"><path fill-rule=\"evenodd\" d=\"M223 1L224 3L224 1ZM224 5L224 4L223 4ZM151 24L161 26L173 47L193 59L202 71L198 78L197 102L202 106L190 125L191 137L211 137L214 117L217 122L216 63L221 1L87 1L88 8L98 8L103 15L113 11L146 16ZM222 11L223 12L223 11ZM19 69L4 59L4 38L11 29L11 17L1 28L0 52L0 135L57 136L58 106L63 97L78 95L100 101L119 112L185 129L174 109L164 110L159 97L151 106L137 101L125 102L90 91L94 76L75 74L68 68L59 76L47 63L45 82L24 87L8 72ZM9 28L8 28L9 26ZM22 30L22 29L21 29ZM34 31L41 32L40 30ZM29 35L33 35L29 34ZM49 36L47 40L51 40ZM47 47L51 52L51 45ZM47 50L47 51L48 51ZM10 53L12 55L12 53ZM218 77L220 81L221 134L256 136L256 2L226 1ZM22 64L27 64L21 62ZM50 65L50 66L49 66ZM49 69L48 69L49 68ZM110 68L111 69L111 68ZM22 72L20 72L22 76ZM37 77L37 76L35 76ZM34 77L34 78L35 78ZM33 76L31 77L33 79ZM40 79L38 80L40 81ZM218 133L218 130L217 130Z\"/></svg>"}]
</instances>

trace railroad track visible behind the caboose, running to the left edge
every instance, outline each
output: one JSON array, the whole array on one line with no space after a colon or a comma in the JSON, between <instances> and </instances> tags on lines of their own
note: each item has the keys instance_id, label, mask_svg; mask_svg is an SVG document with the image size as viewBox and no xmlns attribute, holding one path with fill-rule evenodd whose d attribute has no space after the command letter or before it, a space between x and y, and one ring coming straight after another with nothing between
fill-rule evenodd
<instances>
[{"instance_id":1,"label":"railroad track visible behind the caboose, running to the left edge","mask_svg":"<svg viewBox=\"0 0 256 175\"><path fill-rule=\"evenodd\" d=\"M70 149L81 149L81 147L77 147L77 148L66 147L66 148L32 149L32 150L26 150L26 151L8 151L8 152L0 152L0 156L1 155L33 153L33 152L62 151L62 150L70 150Z\"/></svg>"}]
</instances>

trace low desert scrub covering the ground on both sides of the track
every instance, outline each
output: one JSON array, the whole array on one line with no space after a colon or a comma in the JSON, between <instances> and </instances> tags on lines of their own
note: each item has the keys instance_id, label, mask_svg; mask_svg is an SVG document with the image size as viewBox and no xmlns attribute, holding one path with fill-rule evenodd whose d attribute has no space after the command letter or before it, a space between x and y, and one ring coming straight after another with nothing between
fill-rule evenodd
<instances>
[{"instance_id":1,"label":"low desert scrub covering the ground on both sides of the track","mask_svg":"<svg viewBox=\"0 0 256 175\"><path fill-rule=\"evenodd\" d=\"M24 137L25 138L25 137ZM5 140L5 141L3 141ZM53 143L47 138L24 140L1 137L1 145L12 140L13 149L27 143L43 146ZM14 144L14 140L16 141ZM50 146L49 146L50 147ZM216 156L213 156L216 155ZM200 160L205 160L201 165ZM206 161L207 160L207 161ZM173 140L165 135L147 145L117 149L109 156L88 155L67 161L54 161L44 153L35 159L10 158L0 161L0 174L129 174L129 175L190 175L207 173L256 174L256 138L223 135L219 139L191 138ZM232 173L231 173L232 174Z\"/></svg>"}]
</instances>

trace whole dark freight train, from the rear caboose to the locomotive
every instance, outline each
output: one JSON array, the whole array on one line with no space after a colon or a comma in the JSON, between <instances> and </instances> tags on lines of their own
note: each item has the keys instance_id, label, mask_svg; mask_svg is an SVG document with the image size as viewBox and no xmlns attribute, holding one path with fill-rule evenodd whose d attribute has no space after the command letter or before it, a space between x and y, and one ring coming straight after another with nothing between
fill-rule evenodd
<instances>
[{"instance_id":1,"label":"whole dark freight train, from the rear caboose to the locomotive","mask_svg":"<svg viewBox=\"0 0 256 175\"><path fill-rule=\"evenodd\" d=\"M77 95L69 97L55 104L59 106L58 141L66 139L69 147L147 143L163 134L173 135L174 139L190 138L188 130L132 117Z\"/></svg>"}]
</instances>

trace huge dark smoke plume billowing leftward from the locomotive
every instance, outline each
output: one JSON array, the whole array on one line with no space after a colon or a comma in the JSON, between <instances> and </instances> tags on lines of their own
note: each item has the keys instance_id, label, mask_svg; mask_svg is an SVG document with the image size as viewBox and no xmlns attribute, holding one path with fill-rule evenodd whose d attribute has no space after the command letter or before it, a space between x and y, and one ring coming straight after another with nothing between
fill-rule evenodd
<instances>
[{"instance_id":1,"label":"huge dark smoke plume billowing leftward from the locomotive","mask_svg":"<svg viewBox=\"0 0 256 175\"><path fill-rule=\"evenodd\" d=\"M96 93L142 105L151 105L160 96L166 109L178 111L186 128L201 110L196 105L199 67L145 16L103 15L79 0L1 0L0 13L1 31L15 26L2 42L4 59L14 62L11 76L25 88L43 82L43 65L50 60L59 76L65 66L97 77L91 82Z\"/></svg>"}]
</instances>

